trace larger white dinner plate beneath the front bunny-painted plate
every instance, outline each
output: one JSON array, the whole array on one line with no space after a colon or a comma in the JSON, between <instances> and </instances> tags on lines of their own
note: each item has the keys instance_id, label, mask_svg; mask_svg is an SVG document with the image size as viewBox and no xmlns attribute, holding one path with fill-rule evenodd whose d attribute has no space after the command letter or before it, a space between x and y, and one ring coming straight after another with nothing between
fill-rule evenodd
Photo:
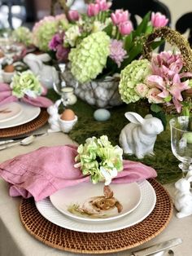
<instances>
[{"instance_id":1,"label":"larger white dinner plate beneath the front bunny-painted plate","mask_svg":"<svg viewBox=\"0 0 192 256\"><path fill-rule=\"evenodd\" d=\"M59 227L64 227L77 232L114 232L140 223L144 218L151 214L151 211L154 209L156 203L154 188L146 180L138 183L138 185L142 193L142 201L137 206L137 209L111 223L82 223L72 218L68 218L68 216L60 213L59 210L51 204L48 197L42 201L36 202L36 206L37 210L44 218L48 219L51 223L55 223Z\"/></svg>"}]
</instances>

